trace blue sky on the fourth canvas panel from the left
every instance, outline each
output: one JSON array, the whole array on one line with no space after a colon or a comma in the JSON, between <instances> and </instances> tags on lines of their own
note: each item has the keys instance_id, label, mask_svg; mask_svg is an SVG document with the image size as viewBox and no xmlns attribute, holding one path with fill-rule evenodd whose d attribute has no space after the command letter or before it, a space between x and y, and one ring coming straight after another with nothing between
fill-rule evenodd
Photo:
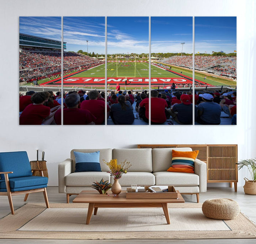
<instances>
[{"instance_id":1,"label":"blue sky on the fourth canvas panel from the left","mask_svg":"<svg viewBox=\"0 0 256 244\"><path fill-rule=\"evenodd\" d=\"M192 17L151 17L151 52L192 53Z\"/></svg>"}]
</instances>

